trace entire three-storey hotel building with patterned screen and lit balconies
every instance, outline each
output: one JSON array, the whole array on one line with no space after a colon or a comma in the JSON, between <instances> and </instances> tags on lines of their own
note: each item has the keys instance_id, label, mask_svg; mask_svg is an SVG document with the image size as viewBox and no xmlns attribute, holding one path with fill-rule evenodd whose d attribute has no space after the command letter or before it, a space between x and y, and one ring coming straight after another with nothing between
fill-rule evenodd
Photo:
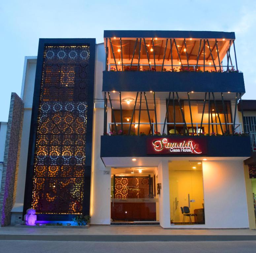
<instances>
[{"instance_id":1,"label":"entire three-storey hotel building with patterned screen and lit balconies","mask_svg":"<svg viewBox=\"0 0 256 253\"><path fill-rule=\"evenodd\" d=\"M25 58L11 223L34 208L41 223L90 214L92 224L255 228L234 41L193 31L40 39Z\"/></svg>"}]
</instances>

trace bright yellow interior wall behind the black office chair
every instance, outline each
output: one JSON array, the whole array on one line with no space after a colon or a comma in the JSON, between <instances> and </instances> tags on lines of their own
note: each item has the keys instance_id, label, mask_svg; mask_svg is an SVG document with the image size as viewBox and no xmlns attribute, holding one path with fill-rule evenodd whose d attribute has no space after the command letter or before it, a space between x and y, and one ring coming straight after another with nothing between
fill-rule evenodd
<instances>
[{"instance_id":1,"label":"bright yellow interior wall behind the black office chair","mask_svg":"<svg viewBox=\"0 0 256 253\"><path fill-rule=\"evenodd\" d=\"M203 208L204 191L202 170L170 170L169 185L171 220L182 222L183 215L180 207L188 206L188 193L190 194L190 200L195 200L195 202L190 203L190 212L194 213L194 209ZM178 201L177 205L176 201Z\"/></svg>"}]
</instances>

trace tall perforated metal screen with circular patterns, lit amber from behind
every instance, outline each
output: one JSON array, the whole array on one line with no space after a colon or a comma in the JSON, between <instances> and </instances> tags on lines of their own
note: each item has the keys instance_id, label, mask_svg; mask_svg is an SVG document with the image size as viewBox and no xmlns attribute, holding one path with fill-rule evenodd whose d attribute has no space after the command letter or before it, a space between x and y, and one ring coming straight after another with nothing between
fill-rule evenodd
<instances>
[{"instance_id":1,"label":"tall perforated metal screen with circular patterns, lit amber from behind","mask_svg":"<svg viewBox=\"0 0 256 253\"><path fill-rule=\"evenodd\" d=\"M82 213L89 49L44 49L32 194L37 213Z\"/></svg>"}]
</instances>

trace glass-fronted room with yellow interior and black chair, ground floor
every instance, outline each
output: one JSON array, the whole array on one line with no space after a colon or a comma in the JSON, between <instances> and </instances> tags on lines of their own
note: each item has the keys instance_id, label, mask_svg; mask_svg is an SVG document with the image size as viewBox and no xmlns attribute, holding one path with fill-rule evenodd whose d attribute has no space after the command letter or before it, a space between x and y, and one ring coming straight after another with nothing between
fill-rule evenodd
<instances>
[{"instance_id":1,"label":"glass-fronted room with yellow interior and black chair, ground floor","mask_svg":"<svg viewBox=\"0 0 256 253\"><path fill-rule=\"evenodd\" d=\"M171 224L205 224L201 161L169 162Z\"/></svg>"}]
</instances>

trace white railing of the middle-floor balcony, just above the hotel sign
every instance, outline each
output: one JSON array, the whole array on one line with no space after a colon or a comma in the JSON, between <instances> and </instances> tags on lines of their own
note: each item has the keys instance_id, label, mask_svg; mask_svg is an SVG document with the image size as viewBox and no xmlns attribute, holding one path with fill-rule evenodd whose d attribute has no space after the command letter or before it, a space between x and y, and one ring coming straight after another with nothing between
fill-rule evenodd
<instances>
[{"instance_id":1,"label":"white railing of the middle-floor balcony, just above the hotel sign","mask_svg":"<svg viewBox=\"0 0 256 253\"><path fill-rule=\"evenodd\" d=\"M155 131L155 129L156 129L156 124L157 125L166 125L166 126L172 126L173 128L171 129L171 130L169 130L169 131L167 131L167 134L169 135L169 134L175 134L175 132L176 132L176 134L181 134L181 133L179 133L177 130L176 130L176 125L180 125L180 126L183 126L184 127L184 132L183 132L183 134L189 134L189 135L204 135L204 134L206 134L205 132L203 132L203 129L202 129L202 127L203 126L208 126L208 128L209 128L209 130L210 130L210 126L215 126L215 127L217 127L217 126L220 126L220 125L222 125L223 127L225 126L225 125L227 125L228 127L230 126L230 127L234 127L234 132L235 133L242 133L242 124L241 123L149 123L149 122L134 122L134 123L109 123L109 127L108 127L108 134L114 134L114 135L118 135L118 134L122 134L122 130L119 130L119 133L118 133L118 131L117 131L117 133L115 132L115 130L114 130L114 125L133 125L134 126L134 128L135 128L135 134L137 134L137 135L141 135L141 132L139 131L139 128L140 128L140 125L150 125L150 128L149 128L149 131L150 131L150 134L151 135L153 135L153 134L156 134L156 133L158 133L158 134L161 134L160 132L156 132ZM151 126L152 126L152 128L151 128ZM195 128L196 129L195 129ZM137 131L136 131L137 130ZM210 132L208 130L208 133L207 134L209 134L209 135L215 135L215 134L217 134L216 132ZM129 134L131 134L131 132L132 132L132 130L130 129L130 131L129 131ZM137 132L137 133L136 133ZM228 131L227 132L229 132L229 129L228 129ZM230 131L230 132L232 132L232 131ZM163 133L165 134L165 129L163 129ZM144 134L144 133L143 133ZM252 137L251 137L252 138ZM253 140L254 140L254 147L255 147L255 151L256 151L256 131L254 132L254 135L253 135ZM253 142L252 142L253 143Z\"/></svg>"}]
</instances>

